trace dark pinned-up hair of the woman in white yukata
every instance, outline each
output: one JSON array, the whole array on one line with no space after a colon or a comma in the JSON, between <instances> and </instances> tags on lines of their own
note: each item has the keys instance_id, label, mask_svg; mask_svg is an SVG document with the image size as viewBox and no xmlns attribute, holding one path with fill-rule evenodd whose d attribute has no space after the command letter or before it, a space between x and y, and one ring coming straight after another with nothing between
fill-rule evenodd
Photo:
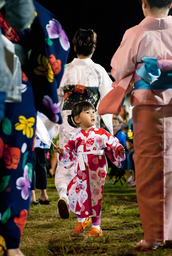
<instances>
[{"instance_id":1,"label":"dark pinned-up hair of the woman in white yukata","mask_svg":"<svg viewBox=\"0 0 172 256\"><path fill-rule=\"evenodd\" d=\"M73 44L76 47L78 55L83 54L88 56L92 54L96 48L97 34L92 29L80 29L75 32L73 37Z\"/></svg>"}]
</instances>

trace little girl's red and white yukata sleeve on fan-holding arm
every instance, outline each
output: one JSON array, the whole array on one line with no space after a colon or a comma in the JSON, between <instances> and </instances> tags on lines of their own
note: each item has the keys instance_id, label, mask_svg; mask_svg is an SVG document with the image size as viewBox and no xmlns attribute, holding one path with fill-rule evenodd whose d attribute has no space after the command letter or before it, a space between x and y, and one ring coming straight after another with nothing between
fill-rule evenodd
<instances>
[{"instance_id":1,"label":"little girl's red and white yukata sleeve on fan-holding arm","mask_svg":"<svg viewBox=\"0 0 172 256\"><path fill-rule=\"evenodd\" d=\"M77 162L77 152L75 141L69 139L68 144L63 149L63 156L59 155L59 161L64 165L64 168L70 169Z\"/></svg>"}]
</instances>

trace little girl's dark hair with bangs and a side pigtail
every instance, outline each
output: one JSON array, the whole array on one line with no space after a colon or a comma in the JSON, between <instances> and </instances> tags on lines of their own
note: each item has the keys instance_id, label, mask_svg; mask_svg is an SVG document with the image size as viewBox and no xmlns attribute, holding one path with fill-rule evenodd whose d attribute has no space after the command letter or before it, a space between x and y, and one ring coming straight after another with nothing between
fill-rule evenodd
<instances>
[{"instance_id":1,"label":"little girl's dark hair with bangs and a side pigtail","mask_svg":"<svg viewBox=\"0 0 172 256\"><path fill-rule=\"evenodd\" d=\"M78 102L75 105L73 105L71 115L68 115L68 124L70 124L70 126L75 128L78 127L78 124L76 124L74 121L74 117L79 116L82 110L87 111L95 109L92 103L88 101Z\"/></svg>"}]
</instances>

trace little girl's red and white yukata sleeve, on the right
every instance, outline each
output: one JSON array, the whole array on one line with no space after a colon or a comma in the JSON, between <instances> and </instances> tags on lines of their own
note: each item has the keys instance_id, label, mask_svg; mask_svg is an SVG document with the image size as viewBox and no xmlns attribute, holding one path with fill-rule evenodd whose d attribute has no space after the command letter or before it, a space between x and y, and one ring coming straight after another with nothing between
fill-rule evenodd
<instances>
[{"instance_id":1,"label":"little girl's red and white yukata sleeve, on the right","mask_svg":"<svg viewBox=\"0 0 172 256\"><path fill-rule=\"evenodd\" d=\"M119 156L119 148L122 147L122 145L119 143L119 140L111 134L107 134L107 137L107 147L104 151L111 160L111 162L114 163L114 165L116 165L117 167L121 168L121 161L126 159L125 155L123 158Z\"/></svg>"}]
</instances>

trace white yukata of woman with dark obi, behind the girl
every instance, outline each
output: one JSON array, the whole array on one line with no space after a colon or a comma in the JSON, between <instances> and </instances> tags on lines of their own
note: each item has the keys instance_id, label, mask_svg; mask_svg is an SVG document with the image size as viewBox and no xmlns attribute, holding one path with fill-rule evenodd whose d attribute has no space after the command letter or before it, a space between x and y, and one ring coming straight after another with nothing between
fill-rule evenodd
<instances>
[{"instance_id":1,"label":"white yukata of woman with dark obi, behind the girl","mask_svg":"<svg viewBox=\"0 0 172 256\"><path fill-rule=\"evenodd\" d=\"M109 93L112 89L112 81L109 78L106 70L99 64L94 63L90 58L87 59L73 59L72 62L65 66L65 71L61 79L60 87L57 90L58 99L61 107L61 115L63 123L59 127L59 146L63 148L68 144L69 138L76 134L80 128L73 128L68 124L67 117L71 114L71 110L62 110L64 102L64 91L65 85L85 85L86 87L98 88L100 100ZM99 127L100 117L97 114L97 124ZM112 127L112 115L102 116L104 124L113 134ZM64 197L68 202L66 195L67 186L75 176L74 168L65 169L63 163L58 162L55 175L55 185L58 191L59 197Z\"/></svg>"}]
</instances>

